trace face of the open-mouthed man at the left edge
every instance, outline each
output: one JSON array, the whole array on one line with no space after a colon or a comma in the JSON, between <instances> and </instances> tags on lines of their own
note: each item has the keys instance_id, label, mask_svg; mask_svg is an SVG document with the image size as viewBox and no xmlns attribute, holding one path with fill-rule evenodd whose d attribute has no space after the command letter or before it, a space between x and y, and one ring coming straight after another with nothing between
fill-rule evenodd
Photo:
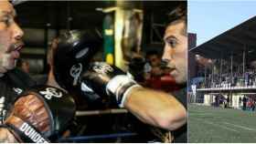
<instances>
[{"instance_id":1,"label":"face of the open-mouthed man at the left edge","mask_svg":"<svg viewBox=\"0 0 256 144\"><path fill-rule=\"evenodd\" d=\"M0 1L0 73L16 67L23 46L23 31L15 22L16 12L8 1Z\"/></svg>"}]
</instances>

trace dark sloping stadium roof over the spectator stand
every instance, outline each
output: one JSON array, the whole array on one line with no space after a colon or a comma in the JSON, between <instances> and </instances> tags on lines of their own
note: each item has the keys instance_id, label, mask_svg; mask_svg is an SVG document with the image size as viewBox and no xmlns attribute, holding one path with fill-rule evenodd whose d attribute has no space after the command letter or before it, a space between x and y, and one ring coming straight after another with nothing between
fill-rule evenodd
<instances>
[{"instance_id":1,"label":"dark sloping stadium roof over the spectator stand","mask_svg":"<svg viewBox=\"0 0 256 144\"><path fill-rule=\"evenodd\" d=\"M233 54L234 61L241 62L243 50L247 52L247 60L256 59L256 16L190 49L189 52L212 59L230 59Z\"/></svg>"}]
</instances>

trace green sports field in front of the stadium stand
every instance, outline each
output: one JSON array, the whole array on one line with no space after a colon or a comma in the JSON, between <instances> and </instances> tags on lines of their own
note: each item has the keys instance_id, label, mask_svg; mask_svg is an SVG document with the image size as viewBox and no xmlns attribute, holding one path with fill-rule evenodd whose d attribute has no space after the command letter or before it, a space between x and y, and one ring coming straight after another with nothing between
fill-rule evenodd
<instances>
[{"instance_id":1,"label":"green sports field in front of the stadium stand","mask_svg":"<svg viewBox=\"0 0 256 144\"><path fill-rule=\"evenodd\" d=\"M189 104L188 142L256 142L256 112Z\"/></svg>"}]
</instances>

